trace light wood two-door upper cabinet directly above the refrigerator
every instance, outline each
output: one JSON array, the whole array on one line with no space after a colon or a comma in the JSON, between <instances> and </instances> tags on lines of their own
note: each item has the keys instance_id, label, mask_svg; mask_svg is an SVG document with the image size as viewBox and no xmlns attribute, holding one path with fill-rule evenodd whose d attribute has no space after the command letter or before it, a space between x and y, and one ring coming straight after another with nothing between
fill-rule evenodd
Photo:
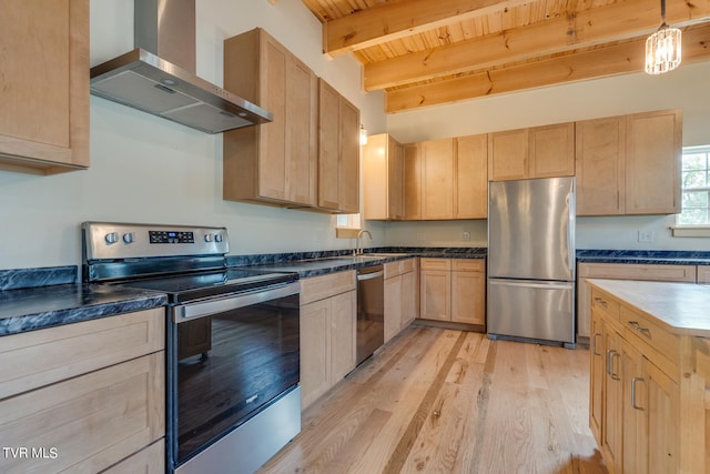
<instances>
[{"instance_id":1,"label":"light wood two-door upper cabinet directly above the refrigerator","mask_svg":"<svg viewBox=\"0 0 710 474\"><path fill-rule=\"evenodd\" d=\"M488 180L575 175L575 123L488 134Z\"/></svg>"}]
</instances>

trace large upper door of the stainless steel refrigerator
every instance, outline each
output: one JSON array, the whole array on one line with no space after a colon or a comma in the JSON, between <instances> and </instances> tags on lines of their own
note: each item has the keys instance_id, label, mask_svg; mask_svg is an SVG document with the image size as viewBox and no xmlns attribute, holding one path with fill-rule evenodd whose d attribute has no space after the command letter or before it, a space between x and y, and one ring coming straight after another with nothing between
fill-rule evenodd
<instances>
[{"instance_id":1,"label":"large upper door of the stainless steel refrigerator","mask_svg":"<svg viewBox=\"0 0 710 474\"><path fill-rule=\"evenodd\" d=\"M575 179L489 183L488 275L575 280Z\"/></svg>"}]
</instances>

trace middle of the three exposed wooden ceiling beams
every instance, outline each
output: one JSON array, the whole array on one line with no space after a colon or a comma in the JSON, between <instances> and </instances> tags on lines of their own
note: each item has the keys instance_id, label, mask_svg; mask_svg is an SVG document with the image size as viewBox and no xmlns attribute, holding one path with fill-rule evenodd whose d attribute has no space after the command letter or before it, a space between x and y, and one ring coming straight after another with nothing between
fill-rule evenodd
<instances>
[{"instance_id":1,"label":"middle of the three exposed wooden ceiling beams","mask_svg":"<svg viewBox=\"0 0 710 474\"><path fill-rule=\"evenodd\" d=\"M673 27L710 20L710 0L672 2L667 22ZM649 0L620 0L527 27L446 44L365 64L366 91L480 70L637 37L658 28L660 6Z\"/></svg>"}]
</instances>

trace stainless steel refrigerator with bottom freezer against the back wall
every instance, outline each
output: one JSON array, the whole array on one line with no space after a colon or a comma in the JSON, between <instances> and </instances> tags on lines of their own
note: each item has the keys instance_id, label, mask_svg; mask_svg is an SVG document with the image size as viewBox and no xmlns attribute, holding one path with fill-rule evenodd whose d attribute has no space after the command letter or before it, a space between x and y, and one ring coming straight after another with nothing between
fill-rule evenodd
<instances>
[{"instance_id":1,"label":"stainless steel refrigerator with bottom freezer against the back wall","mask_svg":"<svg viewBox=\"0 0 710 474\"><path fill-rule=\"evenodd\" d=\"M575 179L488 185L487 332L575 344Z\"/></svg>"}]
</instances>

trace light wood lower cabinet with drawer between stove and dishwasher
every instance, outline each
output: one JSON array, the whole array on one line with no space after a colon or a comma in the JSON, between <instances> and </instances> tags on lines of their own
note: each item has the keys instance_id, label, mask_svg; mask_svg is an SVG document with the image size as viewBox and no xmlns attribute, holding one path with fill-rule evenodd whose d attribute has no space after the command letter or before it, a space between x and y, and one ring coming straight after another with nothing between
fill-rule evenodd
<instances>
[{"instance_id":1,"label":"light wood lower cabinet with drawer between stove and dishwasher","mask_svg":"<svg viewBox=\"0 0 710 474\"><path fill-rule=\"evenodd\" d=\"M308 407L355 369L355 272L301 281L301 393Z\"/></svg>"}]
</instances>

